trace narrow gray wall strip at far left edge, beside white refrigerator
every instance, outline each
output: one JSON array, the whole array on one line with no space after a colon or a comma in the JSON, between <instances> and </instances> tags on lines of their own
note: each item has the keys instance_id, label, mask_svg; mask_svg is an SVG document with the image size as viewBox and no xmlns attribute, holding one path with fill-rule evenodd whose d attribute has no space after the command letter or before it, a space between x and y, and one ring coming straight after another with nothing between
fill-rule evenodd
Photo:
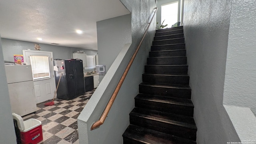
<instances>
[{"instance_id":1,"label":"narrow gray wall strip at far left edge, beside white refrigerator","mask_svg":"<svg viewBox=\"0 0 256 144\"><path fill-rule=\"evenodd\" d=\"M0 39L0 140L1 144L16 144L12 111L4 70L4 57Z\"/></svg>"}]
</instances>

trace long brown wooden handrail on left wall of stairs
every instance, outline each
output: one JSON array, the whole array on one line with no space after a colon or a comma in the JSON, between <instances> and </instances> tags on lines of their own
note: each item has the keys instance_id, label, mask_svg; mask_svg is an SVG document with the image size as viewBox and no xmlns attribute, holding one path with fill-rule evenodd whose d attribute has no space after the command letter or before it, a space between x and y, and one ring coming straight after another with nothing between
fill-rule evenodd
<instances>
[{"instance_id":1,"label":"long brown wooden handrail on left wall of stairs","mask_svg":"<svg viewBox=\"0 0 256 144\"><path fill-rule=\"evenodd\" d=\"M146 37L146 33L148 32L150 24L151 24L152 20L154 19L154 16L155 16L157 10L158 10L158 8L156 8L156 11L154 12L154 15L152 16L152 18L151 18L151 20L148 24L148 27L147 27L147 29L146 29L146 31L145 31L145 33L144 33L144 35L143 35L143 37L140 41L140 44L138 45L137 49L135 50L134 54L132 55L132 58L130 59L126 69L124 70L124 73L123 73L121 79L119 80L119 82L116 86L116 89L114 90L114 93L112 94L110 100L108 101L108 105L106 106L106 108L105 108L104 112L102 113L100 119L98 121L94 122L94 124L92 124L91 130L94 130L95 128L98 128L100 125L102 125L104 123L106 117L108 116L108 112L110 111L110 108L112 107L112 105L113 105L113 103L116 99L116 96L117 96L117 94L118 94L118 92L119 92L119 90L120 90L120 88L121 88L121 86L124 82L124 79L125 79L128 71L129 71L129 69L132 65L132 62L134 61L134 59L135 59L135 57L136 57L136 55L137 55L137 53L140 49L140 46L142 45L142 42L143 42L144 38Z\"/></svg>"}]
</instances>

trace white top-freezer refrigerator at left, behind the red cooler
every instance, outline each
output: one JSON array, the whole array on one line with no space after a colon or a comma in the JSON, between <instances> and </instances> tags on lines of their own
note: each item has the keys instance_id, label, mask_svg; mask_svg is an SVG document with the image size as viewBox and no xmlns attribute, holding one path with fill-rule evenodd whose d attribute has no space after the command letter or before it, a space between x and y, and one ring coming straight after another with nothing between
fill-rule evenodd
<instances>
[{"instance_id":1,"label":"white top-freezer refrigerator at left, behind the red cooler","mask_svg":"<svg viewBox=\"0 0 256 144\"><path fill-rule=\"evenodd\" d=\"M36 95L31 65L5 65L12 112L24 116L35 112Z\"/></svg>"}]
</instances>

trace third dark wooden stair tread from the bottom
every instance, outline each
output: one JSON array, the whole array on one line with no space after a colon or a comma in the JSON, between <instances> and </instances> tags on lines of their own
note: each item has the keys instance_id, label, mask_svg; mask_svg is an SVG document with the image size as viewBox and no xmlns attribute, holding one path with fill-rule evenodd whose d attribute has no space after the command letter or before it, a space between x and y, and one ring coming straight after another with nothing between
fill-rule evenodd
<instances>
[{"instance_id":1,"label":"third dark wooden stair tread from the bottom","mask_svg":"<svg viewBox=\"0 0 256 144\"><path fill-rule=\"evenodd\" d=\"M166 97L160 95L150 95L150 94L142 94L139 93L135 99L147 100L147 101L156 101L161 103L170 103L176 105L183 105L187 107L194 107L192 101L190 99L182 99L178 97Z\"/></svg>"}]
</instances>

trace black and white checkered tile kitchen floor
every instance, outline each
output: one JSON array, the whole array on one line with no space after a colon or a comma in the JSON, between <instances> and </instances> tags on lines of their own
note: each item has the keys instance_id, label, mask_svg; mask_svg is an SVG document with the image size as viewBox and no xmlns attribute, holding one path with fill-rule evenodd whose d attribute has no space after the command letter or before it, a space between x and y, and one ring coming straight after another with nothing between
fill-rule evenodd
<instances>
[{"instance_id":1,"label":"black and white checkered tile kitchen floor","mask_svg":"<svg viewBox=\"0 0 256 144\"><path fill-rule=\"evenodd\" d=\"M42 122L41 144L79 144L77 117L94 93L95 89L70 101L56 99L53 106L37 104L37 111L23 116L23 120L36 118Z\"/></svg>"}]
</instances>

